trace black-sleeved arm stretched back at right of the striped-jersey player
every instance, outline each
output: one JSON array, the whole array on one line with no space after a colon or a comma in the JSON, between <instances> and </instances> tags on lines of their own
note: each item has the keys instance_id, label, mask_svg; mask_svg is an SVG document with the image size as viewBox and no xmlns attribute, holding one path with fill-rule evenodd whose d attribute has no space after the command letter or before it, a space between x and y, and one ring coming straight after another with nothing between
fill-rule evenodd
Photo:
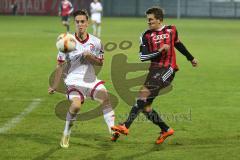
<instances>
[{"instance_id":1,"label":"black-sleeved arm stretched back at right of the striped-jersey player","mask_svg":"<svg viewBox=\"0 0 240 160\"><path fill-rule=\"evenodd\" d=\"M177 30L175 35L174 46L180 53L182 53L187 58L188 61L191 62L193 67L196 67L198 65L197 59L192 56L192 54L188 51L185 45L179 40Z\"/></svg>"}]
</instances>

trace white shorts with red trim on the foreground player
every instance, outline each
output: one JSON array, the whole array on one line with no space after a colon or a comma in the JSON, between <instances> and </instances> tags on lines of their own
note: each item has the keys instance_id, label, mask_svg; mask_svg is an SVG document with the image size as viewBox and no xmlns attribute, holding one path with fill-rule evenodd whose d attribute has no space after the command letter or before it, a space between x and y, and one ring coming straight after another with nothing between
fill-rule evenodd
<instances>
[{"instance_id":1,"label":"white shorts with red trim on the foreground player","mask_svg":"<svg viewBox=\"0 0 240 160\"><path fill-rule=\"evenodd\" d=\"M86 98L92 98L94 100L99 90L106 90L104 83L104 81L99 79L90 83L79 80L79 83L76 85L67 85L66 96L69 100L75 97L80 98L82 103Z\"/></svg>"}]
</instances>

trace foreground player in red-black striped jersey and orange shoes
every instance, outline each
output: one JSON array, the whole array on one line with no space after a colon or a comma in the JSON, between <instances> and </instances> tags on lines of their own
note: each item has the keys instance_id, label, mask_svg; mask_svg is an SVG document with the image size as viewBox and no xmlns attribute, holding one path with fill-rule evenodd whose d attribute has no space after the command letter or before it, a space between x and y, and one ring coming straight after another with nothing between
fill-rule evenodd
<instances>
[{"instance_id":1,"label":"foreground player in red-black striped jersey and orange shoes","mask_svg":"<svg viewBox=\"0 0 240 160\"><path fill-rule=\"evenodd\" d=\"M160 127L161 132L156 144L161 144L168 136L173 135L174 130L161 119L151 104L159 91L171 84L178 70L174 48L182 53L193 67L196 67L198 62L179 40L176 26L163 24L161 8L150 8L146 15L149 29L140 38L140 59L151 61L149 73L127 120L123 124L113 126L112 130L127 135L132 122L142 112L147 119Z\"/></svg>"}]
</instances>

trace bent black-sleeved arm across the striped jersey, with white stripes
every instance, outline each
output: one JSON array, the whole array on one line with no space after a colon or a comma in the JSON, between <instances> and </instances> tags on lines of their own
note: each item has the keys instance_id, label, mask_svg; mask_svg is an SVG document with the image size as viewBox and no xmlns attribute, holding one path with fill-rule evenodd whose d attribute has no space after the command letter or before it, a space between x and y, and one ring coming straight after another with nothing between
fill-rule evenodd
<instances>
[{"instance_id":1,"label":"bent black-sleeved arm across the striped jersey, with white stripes","mask_svg":"<svg viewBox=\"0 0 240 160\"><path fill-rule=\"evenodd\" d=\"M169 49L169 45L164 44L156 52L150 52L148 41L147 41L146 37L144 36L144 34L142 37L140 37L140 52L139 52L139 54L140 54L140 59L142 62L154 59L155 57L159 56L163 50L168 51L168 49Z\"/></svg>"}]
</instances>

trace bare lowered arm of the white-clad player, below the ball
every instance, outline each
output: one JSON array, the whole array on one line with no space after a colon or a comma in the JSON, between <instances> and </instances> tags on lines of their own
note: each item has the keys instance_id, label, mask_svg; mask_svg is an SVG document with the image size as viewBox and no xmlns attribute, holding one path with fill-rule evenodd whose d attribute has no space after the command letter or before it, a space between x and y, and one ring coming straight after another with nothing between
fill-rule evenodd
<instances>
[{"instance_id":1,"label":"bare lowered arm of the white-clad player, below the ball","mask_svg":"<svg viewBox=\"0 0 240 160\"><path fill-rule=\"evenodd\" d=\"M58 86L58 84L60 83L60 80L61 80L62 72L63 72L63 63L60 63L60 64L57 65L57 68L56 68L56 73L55 73L53 85L49 86L49 88L48 88L48 93L49 94L54 94L55 90L57 89L57 86Z\"/></svg>"}]
</instances>

